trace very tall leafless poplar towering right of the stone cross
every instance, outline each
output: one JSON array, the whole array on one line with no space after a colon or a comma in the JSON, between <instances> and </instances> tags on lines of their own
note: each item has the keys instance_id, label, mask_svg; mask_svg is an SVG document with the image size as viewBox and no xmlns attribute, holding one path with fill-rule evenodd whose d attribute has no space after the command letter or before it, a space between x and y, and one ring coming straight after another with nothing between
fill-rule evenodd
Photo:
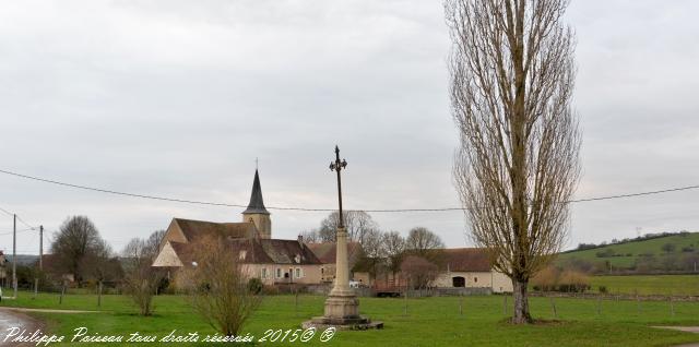
<instances>
[{"instance_id":1,"label":"very tall leafless poplar towering right of the stone cross","mask_svg":"<svg viewBox=\"0 0 699 347\"><path fill-rule=\"evenodd\" d=\"M526 286L560 250L580 172L571 108L568 0L446 0L454 180L470 235L514 287L513 323L531 322Z\"/></svg>"}]
</instances>

